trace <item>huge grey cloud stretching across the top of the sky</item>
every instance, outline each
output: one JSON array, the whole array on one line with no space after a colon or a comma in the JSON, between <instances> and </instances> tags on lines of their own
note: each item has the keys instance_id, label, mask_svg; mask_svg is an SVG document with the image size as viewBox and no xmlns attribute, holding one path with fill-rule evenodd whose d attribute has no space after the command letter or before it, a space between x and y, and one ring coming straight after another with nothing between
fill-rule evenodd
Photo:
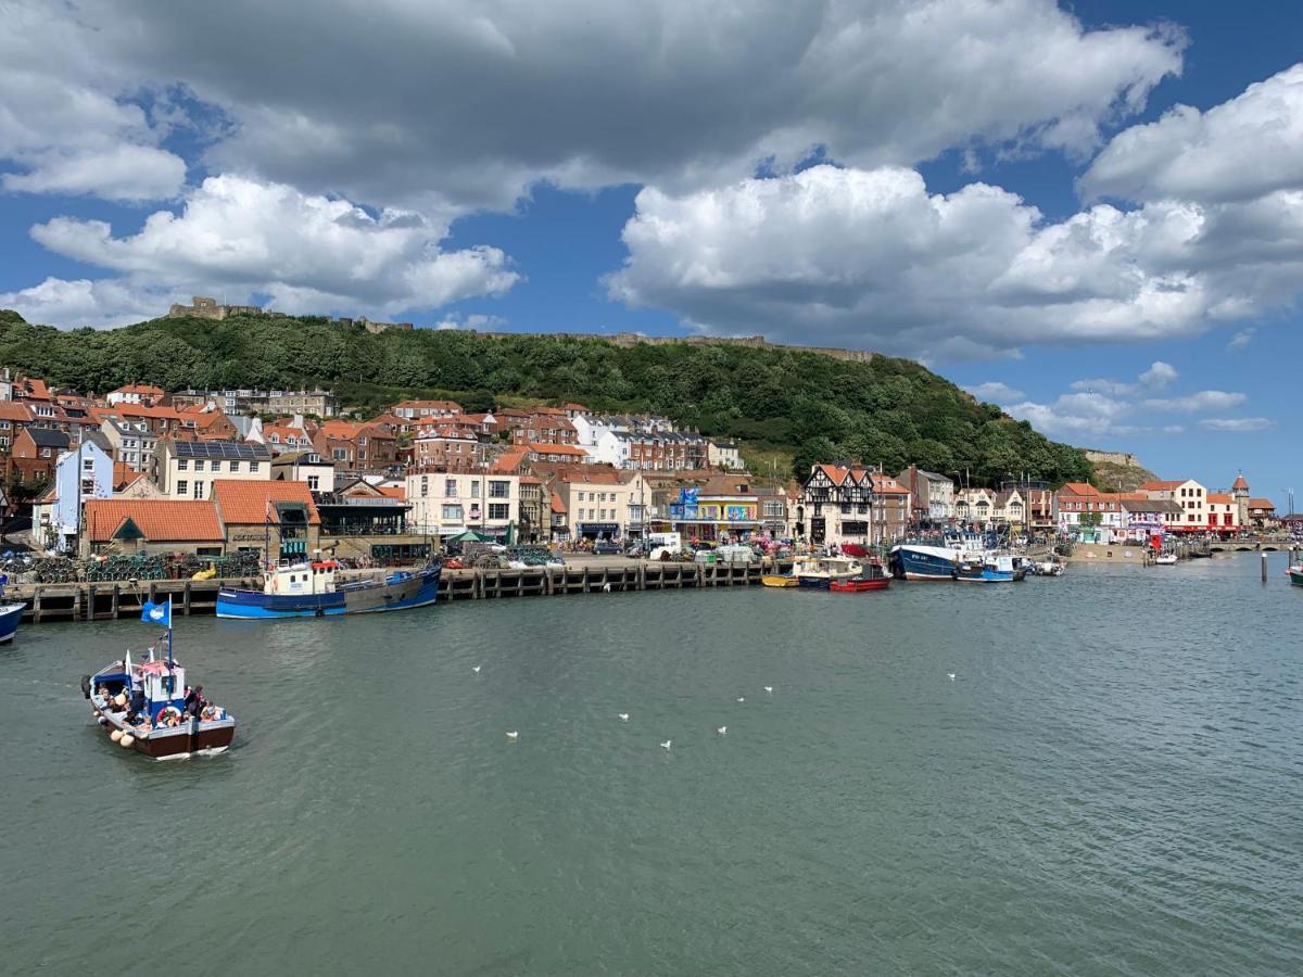
<instances>
[{"instance_id":1,"label":"huge grey cloud stretching across the top of the sky","mask_svg":"<svg viewBox=\"0 0 1303 977\"><path fill-rule=\"evenodd\" d=\"M18 9L10 47L47 91L94 77L121 107L180 83L223 112L210 171L440 214L539 180L681 191L816 150L1087 152L1184 47L1054 0L380 0L365 36L353 0Z\"/></svg>"}]
</instances>

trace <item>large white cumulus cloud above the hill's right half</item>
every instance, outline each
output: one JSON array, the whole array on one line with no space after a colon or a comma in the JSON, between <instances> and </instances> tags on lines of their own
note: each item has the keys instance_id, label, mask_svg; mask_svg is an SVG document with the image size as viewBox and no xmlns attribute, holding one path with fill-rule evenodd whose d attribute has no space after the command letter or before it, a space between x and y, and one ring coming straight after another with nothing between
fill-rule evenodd
<instances>
[{"instance_id":1,"label":"large white cumulus cloud above the hill's right half","mask_svg":"<svg viewBox=\"0 0 1303 977\"><path fill-rule=\"evenodd\" d=\"M1257 237L1267 225L1274 234ZM818 165L680 195L644 189L623 240L610 294L702 331L990 356L1190 336L1286 301L1303 195L1253 218L1101 205L1049 223L985 184L929 194L912 169Z\"/></svg>"}]
</instances>

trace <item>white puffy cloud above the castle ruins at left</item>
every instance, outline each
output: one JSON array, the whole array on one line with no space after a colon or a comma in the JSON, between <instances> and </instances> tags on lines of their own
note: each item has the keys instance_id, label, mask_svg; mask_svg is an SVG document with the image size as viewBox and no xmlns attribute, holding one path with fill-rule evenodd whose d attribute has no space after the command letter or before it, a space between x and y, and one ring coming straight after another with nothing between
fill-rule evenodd
<instances>
[{"instance_id":1,"label":"white puffy cloud above the castle ruins at left","mask_svg":"<svg viewBox=\"0 0 1303 977\"><path fill-rule=\"evenodd\" d=\"M496 248L440 250L444 228L417 214L371 216L348 201L235 176L205 180L180 214L156 211L132 236L73 218L31 234L59 254L121 272L137 290L265 293L289 313L388 317L500 294L520 279Z\"/></svg>"}]
</instances>

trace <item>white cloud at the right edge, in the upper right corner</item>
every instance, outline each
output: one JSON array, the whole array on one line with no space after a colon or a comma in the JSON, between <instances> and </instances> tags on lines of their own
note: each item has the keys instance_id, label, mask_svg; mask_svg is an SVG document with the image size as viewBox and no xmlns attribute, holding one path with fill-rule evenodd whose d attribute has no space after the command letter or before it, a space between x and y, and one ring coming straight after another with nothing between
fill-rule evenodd
<instances>
[{"instance_id":1,"label":"white cloud at the right edge, in the upper right corner","mask_svg":"<svg viewBox=\"0 0 1303 977\"><path fill-rule=\"evenodd\" d=\"M1247 201L1303 185L1303 64L1200 112L1177 106L1113 138L1080 180L1089 197Z\"/></svg>"}]
</instances>

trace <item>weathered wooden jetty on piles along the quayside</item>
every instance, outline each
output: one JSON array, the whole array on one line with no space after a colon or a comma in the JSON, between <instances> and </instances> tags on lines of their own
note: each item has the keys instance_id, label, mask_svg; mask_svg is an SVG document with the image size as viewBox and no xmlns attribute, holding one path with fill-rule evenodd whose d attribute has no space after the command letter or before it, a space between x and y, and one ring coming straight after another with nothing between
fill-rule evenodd
<instances>
[{"instance_id":1,"label":"weathered wooden jetty on piles along the quayside","mask_svg":"<svg viewBox=\"0 0 1303 977\"><path fill-rule=\"evenodd\" d=\"M526 569L446 569L439 581L440 601L482 601L503 597L555 597L606 594L632 590L683 590L687 588L756 586L765 573L787 573L791 563L655 563L612 560L577 567L530 567ZM383 571L360 571L367 577ZM78 584L18 584L7 595L27 604L23 620L100 621L139 617L146 601L172 598L180 616L216 614L218 590L224 586L257 588L250 578L96 581Z\"/></svg>"}]
</instances>

